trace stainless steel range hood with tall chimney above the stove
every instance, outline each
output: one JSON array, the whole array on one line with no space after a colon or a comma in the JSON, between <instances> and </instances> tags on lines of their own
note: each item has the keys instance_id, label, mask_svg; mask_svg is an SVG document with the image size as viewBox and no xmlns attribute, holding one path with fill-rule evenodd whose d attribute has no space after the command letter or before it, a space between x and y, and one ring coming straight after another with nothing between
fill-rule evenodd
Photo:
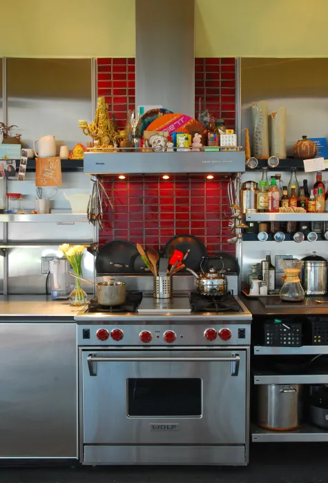
<instances>
[{"instance_id":1,"label":"stainless steel range hood with tall chimney above the stove","mask_svg":"<svg viewBox=\"0 0 328 483\"><path fill-rule=\"evenodd\" d=\"M135 0L136 107L195 117L195 1ZM86 152L90 174L244 172L244 152Z\"/></svg>"}]
</instances>

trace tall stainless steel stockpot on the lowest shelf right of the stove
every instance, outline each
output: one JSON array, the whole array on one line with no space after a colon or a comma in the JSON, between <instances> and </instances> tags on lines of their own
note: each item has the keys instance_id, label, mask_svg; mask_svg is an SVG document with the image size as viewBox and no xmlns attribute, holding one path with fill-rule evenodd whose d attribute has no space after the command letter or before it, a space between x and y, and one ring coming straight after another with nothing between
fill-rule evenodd
<instances>
[{"instance_id":1,"label":"tall stainless steel stockpot on the lowest shelf right of the stove","mask_svg":"<svg viewBox=\"0 0 328 483\"><path fill-rule=\"evenodd\" d=\"M258 425L274 431L300 427L300 384L263 384L258 386Z\"/></svg>"}]
</instances>

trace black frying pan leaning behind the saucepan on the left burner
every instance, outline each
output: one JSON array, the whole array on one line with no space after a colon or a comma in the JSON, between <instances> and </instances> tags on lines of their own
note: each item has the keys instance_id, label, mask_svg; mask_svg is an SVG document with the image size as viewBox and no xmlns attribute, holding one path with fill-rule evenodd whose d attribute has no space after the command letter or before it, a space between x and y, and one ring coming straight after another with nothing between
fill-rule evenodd
<instances>
[{"instance_id":1,"label":"black frying pan leaning behind the saucepan on the left burner","mask_svg":"<svg viewBox=\"0 0 328 483\"><path fill-rule=\"evenodd\" d=\"M117 240L100 248L97 260L97 273L133 273L133 259L138 250L131 242Z\"/></svg>"}]
</instances>

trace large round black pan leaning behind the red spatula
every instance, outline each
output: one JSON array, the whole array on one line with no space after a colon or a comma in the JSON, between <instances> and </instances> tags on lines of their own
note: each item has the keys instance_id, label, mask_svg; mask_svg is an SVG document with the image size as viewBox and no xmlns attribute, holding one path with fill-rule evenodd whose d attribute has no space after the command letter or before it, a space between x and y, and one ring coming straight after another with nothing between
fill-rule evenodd
<instances>
[{"instance_id":1,"label":"large round black pan leaning behind the red spatula","mask_svg":"<svg viewBox=\"0 0 328 483\"><path fill-rule=\"evenodd\" d=\"M207 253L205 245L199 238L194 237L193 235L176 235L169 240L164 247L163 254L165 257L168 257L168 250L172 245L175 246L176 250L182 252L182 254L190 250L188 257L185 259L186 267L191 268L191 270L194 270L195 272L200 269L200 263L202 262L202 259L206 257ZM184 271L185 270L186 268L184 268Z\"/></svg>"}]
</instances>

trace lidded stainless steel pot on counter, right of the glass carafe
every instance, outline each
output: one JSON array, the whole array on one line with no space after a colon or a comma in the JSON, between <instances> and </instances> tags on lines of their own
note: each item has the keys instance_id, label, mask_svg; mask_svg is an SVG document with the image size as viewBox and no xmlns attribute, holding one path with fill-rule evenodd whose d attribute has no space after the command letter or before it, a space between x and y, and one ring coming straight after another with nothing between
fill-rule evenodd
<instances>
[{"instance_id":1,"label":"lidded stainless steel pot on counter, right of the glass carafe","mask_svg":"<svg viewBox=\"0 0 328 483\"><path fill-rule=\"evenodd\" d=\"M303 258L303 261L302 286L305 295L326 295L327 259L313 252L313 255Z\"/></svg>"}]
</instances>

